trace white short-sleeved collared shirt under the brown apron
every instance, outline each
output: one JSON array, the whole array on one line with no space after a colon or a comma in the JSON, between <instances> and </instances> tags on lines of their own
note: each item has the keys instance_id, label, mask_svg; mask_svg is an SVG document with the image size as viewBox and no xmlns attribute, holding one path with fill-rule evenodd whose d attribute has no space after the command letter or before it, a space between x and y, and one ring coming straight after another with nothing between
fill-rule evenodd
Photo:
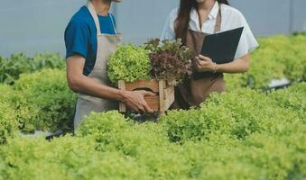
<instances>
[{"instance_id":1,"label":"white short-sleeved collared shirt under the brown apron","mask_svg":"<svg viewBox=\"0 0 306 180\"><path fill-rule=\"evenodd\" d=\"M202 28L199 28L199 14L197 13L197 10L192 9L190 12L189 29L193 31L202 31L209 34L214 33L218 15L218 7L219 4L216 1L216 4L214 4L209 14L208 20L202 24ZM174 23L178 13L179 8L172 10L167 19L167 22L164 25L162 36L160 38L161 40L175 40ZM221 31L228 31L240 27L245 27L238 44L238 48L236 50L235 58L242 58L258 47L258 43L249 25L246 23L246 18L243 14L227 4L221 4L221 16Z\"/></svg>"}]
</instances>

